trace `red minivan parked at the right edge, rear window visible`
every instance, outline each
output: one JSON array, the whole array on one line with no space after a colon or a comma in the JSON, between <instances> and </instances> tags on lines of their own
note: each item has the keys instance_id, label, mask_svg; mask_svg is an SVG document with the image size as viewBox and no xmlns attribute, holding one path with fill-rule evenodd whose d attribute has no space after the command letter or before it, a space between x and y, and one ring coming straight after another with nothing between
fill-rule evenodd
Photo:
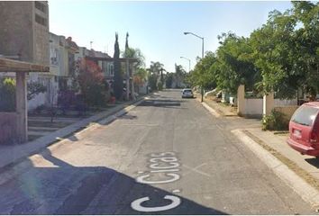
<instances>
[{"instance_id":1,"label":"red minivan parked at the right edge, rear window visible","mask_svg":"<svg viewBox=\"0 0 319 216\"><path fill-rule=\"evenodd\" d=\"M303 155L319 156L319 102L302 104L289 122L287 144Z\"/></svg>"}]
</instances>

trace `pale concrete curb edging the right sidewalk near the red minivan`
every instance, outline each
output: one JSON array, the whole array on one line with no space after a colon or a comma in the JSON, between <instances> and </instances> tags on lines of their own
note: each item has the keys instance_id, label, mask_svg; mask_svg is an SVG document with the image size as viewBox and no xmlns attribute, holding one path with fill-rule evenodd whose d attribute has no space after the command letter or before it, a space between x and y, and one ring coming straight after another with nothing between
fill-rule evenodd
<instances>
[{"instance_id":1,"label":"pale concrete curb edging the right sidewalk near the red minivan","mask_svg":"<svg viewBox=\"0 0 319 216\"><path fill-rule=\"evenodd\" d=\"M269 168L289 187L291 187L305 202L310 202L313 207L319 206L319 191L313 186L306 183L303 178L296 175L294 171L288 168L285 164L278 160L262 148L257 142L246 135L242 130L232 130L232 133L242 141L242 143L250 148L251 151L260 158L260 160L269 166Z\"/></svg>"}]
</instances>

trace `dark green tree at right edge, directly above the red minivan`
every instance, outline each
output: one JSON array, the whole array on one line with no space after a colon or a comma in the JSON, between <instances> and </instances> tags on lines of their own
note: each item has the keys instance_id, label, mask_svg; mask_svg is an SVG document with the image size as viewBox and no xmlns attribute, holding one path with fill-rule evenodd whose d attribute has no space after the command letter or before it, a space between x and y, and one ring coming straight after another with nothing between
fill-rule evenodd
<instances>
[{"instance_id":1,"label":"dark green tree at right edge, directly above the red minivan","mask_svg":"<svg viewBox=\"0 0 319 216\"><path fill-rule=\"evenodd\" d=\"M305 92L319 93L319 2L292 2L292 10L299 28L295 30L293 73L302 76ZM298 78L299 78L298 77ZM302 83L302 84L300 84Z\"/></svg>"}]
</instances>

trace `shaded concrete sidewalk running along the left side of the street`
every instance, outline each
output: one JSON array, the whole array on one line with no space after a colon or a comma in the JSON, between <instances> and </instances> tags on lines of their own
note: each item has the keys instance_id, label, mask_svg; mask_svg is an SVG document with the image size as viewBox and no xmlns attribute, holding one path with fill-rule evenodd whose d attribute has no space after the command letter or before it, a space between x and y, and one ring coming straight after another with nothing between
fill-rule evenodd
<instances>
[{"instance_id":1,"label":"shaded concrete sidewalk running along the left side of the street","mask_svg":"<svg viewBox=\"0 0 319 216\"><path fill-rule=\"evenodd\" d=\"M40 152L42 149L64 138L69 140L76 139L74 136L71 136L71 134L75 133L76 131L84 130L88 127L92 129L95 127L95 125L99 125L100 123L113 121L116 119L116 117L132 109L132 105L141 103L145 98L147 98L147 96L143 96L136 101L117 105L108 111L99 112L87 119L77 121L68 125L68 127L50 132L39 139L35 139L27 143L17 145L0 145L0 169L4 168L5 166L19 163L25 157L32 156L33 154Z\"/></svg>"}]
</instances>

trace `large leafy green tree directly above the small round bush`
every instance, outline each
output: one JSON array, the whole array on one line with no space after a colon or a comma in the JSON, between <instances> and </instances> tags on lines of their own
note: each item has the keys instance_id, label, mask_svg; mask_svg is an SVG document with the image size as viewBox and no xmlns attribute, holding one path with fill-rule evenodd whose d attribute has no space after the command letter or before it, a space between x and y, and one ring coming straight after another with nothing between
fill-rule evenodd
<instances>
[{"instance_id":1,"label":"large leafy green tree directly above the small round bush","mask_svg":"<svg viewBox=\"0 0 319 216\"><path fill-rule=\"evenodd\" d=\"M303 73L296 63L296 19L287 11L269 13L269 20L251 33L251 47L262 80L256 85L260 92L274 91L280 98L296 96L296 88L303 82Z\"/></svg>"}]
</instances>

